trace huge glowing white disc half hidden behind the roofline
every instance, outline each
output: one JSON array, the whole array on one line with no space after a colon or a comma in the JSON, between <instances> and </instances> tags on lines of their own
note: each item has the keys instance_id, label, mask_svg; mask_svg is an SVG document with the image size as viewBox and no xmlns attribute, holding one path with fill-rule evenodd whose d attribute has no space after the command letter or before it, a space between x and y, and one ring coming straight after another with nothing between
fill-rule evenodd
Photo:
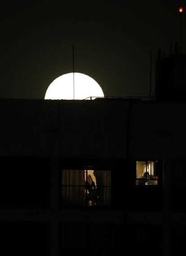
<instances>
[{"instance_id":1,"label":"huge glowing white disc half hidden behind the roofline","mask_svg":"<svg viewBox=\"0 0 186 256\"><path fill-rule=\"evenodd\" d=\"M82 73L67 73L56 78L48 87L45 100L84 100L104 97L102 88L91 77ZM90 100L90 98L89 98Z\"/></svg>"}]
</instances>

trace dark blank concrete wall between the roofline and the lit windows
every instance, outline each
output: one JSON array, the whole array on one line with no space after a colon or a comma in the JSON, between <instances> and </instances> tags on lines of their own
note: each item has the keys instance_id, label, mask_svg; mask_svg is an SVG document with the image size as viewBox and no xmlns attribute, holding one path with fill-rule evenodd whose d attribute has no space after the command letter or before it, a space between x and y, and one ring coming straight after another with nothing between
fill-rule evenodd
<instances>
[{"instance_id":1,"label":"dark blank concrete wall between the roofline and the lit windows","mask_svg":"<svg viewBox=\"0 0 186 256\"><path fill-rule=\"evenodd\" d=\"M0 100L0 155L181 158L186 103Z\"/></svg>"}]
</instances>

